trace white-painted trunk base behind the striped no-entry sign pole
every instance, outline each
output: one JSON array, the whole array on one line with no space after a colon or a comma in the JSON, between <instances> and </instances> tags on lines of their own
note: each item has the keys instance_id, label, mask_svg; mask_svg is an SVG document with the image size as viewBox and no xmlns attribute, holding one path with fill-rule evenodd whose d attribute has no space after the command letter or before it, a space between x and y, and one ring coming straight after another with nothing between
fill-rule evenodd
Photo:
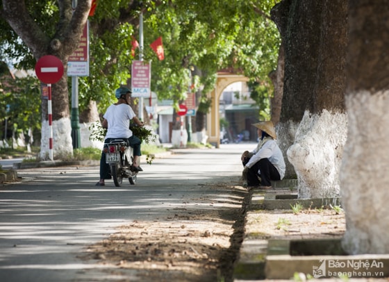
<instances>
[{"instance_id":1,"label":"white-painted trunk base behind the striped no-entry sign pole","mask_svg":"<svg viewBox=\"0 0 389 282\"><path fill-rule=\"evenodd\" d=\"M73 145L72 145L72 126L69 118L62 118L53 121L53 156L72 156ZM40 144L40 158L42 160L49 160L49 138L50 128L49 121L44 120L42 122L42 137Z\"/></svg>"}]
</instances>

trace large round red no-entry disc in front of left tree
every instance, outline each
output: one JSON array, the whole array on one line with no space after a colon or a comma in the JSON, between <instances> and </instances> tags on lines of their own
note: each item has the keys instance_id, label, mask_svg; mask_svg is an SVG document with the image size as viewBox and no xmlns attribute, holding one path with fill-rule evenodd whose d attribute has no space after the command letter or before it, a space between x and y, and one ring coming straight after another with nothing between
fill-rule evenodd
<instances>
[{"instance_id":1,"label":"large round red no-entry disc in front of left tree","mask_svg":"<svg viewBox=\"0 0 389 282\"><path fill-rule=\"evenodd\" d=\"M56 56L43 56L35 65L35 74L42 83L56 83L63 76L63 63Z\"/></svg>"}]
</instances>

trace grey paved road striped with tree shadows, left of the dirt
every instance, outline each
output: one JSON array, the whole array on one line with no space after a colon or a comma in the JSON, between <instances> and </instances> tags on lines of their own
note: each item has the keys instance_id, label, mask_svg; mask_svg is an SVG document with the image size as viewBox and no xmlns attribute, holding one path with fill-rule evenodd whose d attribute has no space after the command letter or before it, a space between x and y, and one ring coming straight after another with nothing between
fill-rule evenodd
<instances>
[{"instance_id":1,"label":"grey paved road striped with tree shadows, left of the dirt","mask_svg":"<svg viewBox=\"0 0 389 282\"><path fill-rule=\"evenodd\" d=\"M101 266L77 258L88 244L119 225L154 220L188 197L201 198L206 184L235 181L240 154L251 147L182 149L143 164L138 183L121 188L113 181L94 186L98 167L20 169L22 183L0 185L0 281L96 281L91 275L97 272L88 269ZM215 199L229 196L213 193Z\"/></svg>"}]
</instances>

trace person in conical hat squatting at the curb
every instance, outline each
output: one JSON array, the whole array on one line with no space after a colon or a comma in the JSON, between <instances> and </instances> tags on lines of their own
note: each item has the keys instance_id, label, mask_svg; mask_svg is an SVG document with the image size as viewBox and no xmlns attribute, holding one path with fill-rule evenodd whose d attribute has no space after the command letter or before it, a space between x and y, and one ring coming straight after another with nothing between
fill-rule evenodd
<instances>
[{"instance_id":1,"label":"person in conical hat squatting at the curb","mask_svg":"<svg viewBox=\"0 0 389 282\"><path fill-rule=\"evenodd\" d=\"M283 179L285 160L276 143L276 131L272 122L252 124L258 128L259 142L254 151L245 151L241 160L243 167L243 187L251 190L260 185L260 189L272 188L270 181ZM260 177L260 180L258 179Z\"/></svg>"}]
</instances>

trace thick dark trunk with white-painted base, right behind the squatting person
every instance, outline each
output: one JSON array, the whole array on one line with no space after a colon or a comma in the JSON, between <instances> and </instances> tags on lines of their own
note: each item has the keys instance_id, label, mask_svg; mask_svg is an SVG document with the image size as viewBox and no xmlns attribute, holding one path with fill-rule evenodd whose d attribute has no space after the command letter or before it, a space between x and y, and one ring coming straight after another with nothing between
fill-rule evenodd
<instances>
[{"instance_id":1,"label":"thick dark trunk with white-painted base, right behind the squatting person","mask_svg":"<svg viewBox=\"0 0 389 282\"><path fill-rule=\"evenodd\" d=\"M284 0L272 10L285 47L280 143L299 180L299 197L339 195L347 135L346 1Z\"/></svg>"}]
</instances>

